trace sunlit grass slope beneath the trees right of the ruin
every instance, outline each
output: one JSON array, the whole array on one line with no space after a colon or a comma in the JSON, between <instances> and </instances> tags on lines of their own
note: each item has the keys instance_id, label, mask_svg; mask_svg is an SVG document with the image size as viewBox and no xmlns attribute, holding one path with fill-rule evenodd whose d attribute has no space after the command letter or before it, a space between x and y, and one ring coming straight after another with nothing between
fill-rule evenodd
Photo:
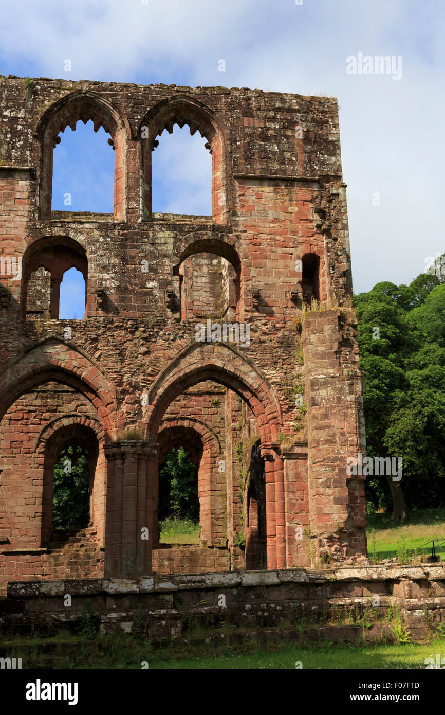
<instances>
[{"instance_id":1,"label":"sunlit grass slope beneath the trees right of the ruin","mask_svg":"<svg viewBox=\"0 0 445 715\"><path fill-rule=\"evenodd\" d=\"M444 538L445 541L445 509L418 509L409 513L403 524L397 525L392 521L391 514L369 514L366 517L366 536L368 538L368 554L374 555L377 561L392 558L397 555L397 541L404 535L405 544L411 549L417 549L416 556L431 554L431 544L419 548L433 538ZM374 530L374 535L373 535ZM445 543L441 549L436 549L445 561Z\"/></svg>"}]
</instances>

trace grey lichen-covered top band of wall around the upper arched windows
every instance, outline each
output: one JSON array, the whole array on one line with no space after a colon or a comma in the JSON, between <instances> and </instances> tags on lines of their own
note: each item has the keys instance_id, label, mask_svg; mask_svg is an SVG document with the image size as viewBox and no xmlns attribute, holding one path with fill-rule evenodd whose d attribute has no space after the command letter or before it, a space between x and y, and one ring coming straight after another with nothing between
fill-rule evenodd
<instances>
[{"instance_id":1,"label":"grey lichen-covered top band of wall around the upper arched windows","mask_svg":"<svg viewBox=\"0 0 445 715\"><path fill-rule=\"evenodd\" d=\"M13 75L0 76L0 167L36 169L36 130L42 117L65 97L76 94L81 102L83 93L116 108L134 141L141 140L138 129L156 104L178 97L201 103L221 129L235 178L341 178L334 97Z\"/></svg>"}]
</instances>

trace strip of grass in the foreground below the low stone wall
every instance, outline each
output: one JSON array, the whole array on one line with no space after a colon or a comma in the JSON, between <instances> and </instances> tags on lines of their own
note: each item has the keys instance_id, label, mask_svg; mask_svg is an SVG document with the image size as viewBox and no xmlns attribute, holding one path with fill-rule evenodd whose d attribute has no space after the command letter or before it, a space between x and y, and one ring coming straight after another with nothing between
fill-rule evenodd
<instances>
[{"instance_id":1,"label":"strip of grass in the foreground below the low stone wall","mask_svg":"<svg viewBox=\"0 0 445 715\"><path fill-rule=\"evenodd\" d=\"M15 639L14 639L15 640ZM46 639L49 643L50 639ZM5 643L6 645L6 643ZM259 648L247 642L242 651L229 646L208 648L206 653L192 649L184 652L180 646L155 651L149 641L134 641L122 638L98 638L88 649L81 644L72 644L68 650L65 641L64 653L42 656L24 653L20 644L14 642L12 657L23 657L25 669L424 669L425 659L437 654L445 656L445 639L435 638L429 644L379 644L363 646L334 646L319 642L309 646L280 644ZM145 665L147 667L147 665Z\"/></svg>"}]
</instances>

